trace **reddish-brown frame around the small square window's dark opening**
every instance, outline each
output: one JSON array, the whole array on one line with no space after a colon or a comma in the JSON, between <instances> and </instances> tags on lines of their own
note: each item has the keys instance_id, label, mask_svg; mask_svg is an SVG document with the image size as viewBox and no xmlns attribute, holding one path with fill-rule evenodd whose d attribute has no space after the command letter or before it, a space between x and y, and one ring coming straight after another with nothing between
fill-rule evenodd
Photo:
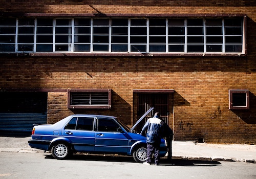
<instances>
[{"instance_id":1,"label":"reddish-brown frame around the small square window's dark opening","mask_svg":"<svg viewBox=\"0 0 256 179\"><path fill-rule=\"evenodd\" d=\"M248 89L229 89L229 109L249 109L249 90ZM233 94L245 94L245 105L233 106Z\"/></svg>"}]
</instances>

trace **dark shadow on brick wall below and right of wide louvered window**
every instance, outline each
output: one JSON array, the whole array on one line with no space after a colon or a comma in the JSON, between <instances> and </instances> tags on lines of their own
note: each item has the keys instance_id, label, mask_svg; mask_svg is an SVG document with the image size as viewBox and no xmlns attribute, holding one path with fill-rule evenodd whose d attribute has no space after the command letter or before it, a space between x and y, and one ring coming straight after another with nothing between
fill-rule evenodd
<instances>
[{"instance_id":1,"label":"dark shadow on brick wall below and right of wide louvered window","mask_svg":"<svg viewBox=\"0 0 256 179\"><path fill-rule=\"evenodd\" d=\"M110 109L70 109L74 114L95 114L118 117L125 124L131 124L131 105L112 90Z\"/></svg>"}]
</instances>

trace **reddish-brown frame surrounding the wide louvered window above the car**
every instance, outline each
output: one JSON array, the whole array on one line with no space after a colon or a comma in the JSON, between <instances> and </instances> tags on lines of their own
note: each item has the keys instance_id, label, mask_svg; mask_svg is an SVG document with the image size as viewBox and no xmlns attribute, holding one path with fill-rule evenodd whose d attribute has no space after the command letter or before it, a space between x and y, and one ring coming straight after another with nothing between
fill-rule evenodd
<instances>
[{"instance_id":1,"label":"reddish-brown frame surrounding the wide louvered window above the car","mask_svg":"<svg viewBox=\"0 0 256 179\"><path fill-rule=\"evenodd\" d=\"M108 105L74 105L71 104L72 93L108 93ZM112 89L68 89L68 108L69 109L111 109Z\"/></svg>"}]
</instances>

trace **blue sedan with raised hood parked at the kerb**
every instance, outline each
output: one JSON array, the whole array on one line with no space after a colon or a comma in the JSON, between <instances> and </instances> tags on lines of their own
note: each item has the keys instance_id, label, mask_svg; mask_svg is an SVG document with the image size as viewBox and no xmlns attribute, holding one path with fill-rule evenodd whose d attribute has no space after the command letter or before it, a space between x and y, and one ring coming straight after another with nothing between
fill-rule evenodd
<instances>
[{"instance_id":1,"label":"blue sedan with raised hood parked at the kerb","mask_svg":"<svg viewBox=\"0 0 256 179\"><path fill-rule=\"evenodd\" d=\"M32 130L30 147L51 151L55 159L66 159L76 152L132 155L136 162L146 161L146 138L134 131L148 110L133 126L127 127L116 117L71 115L55 124L37 125ZM167 148L161 141L160 157Z\"/></svg>"}]
</instances>

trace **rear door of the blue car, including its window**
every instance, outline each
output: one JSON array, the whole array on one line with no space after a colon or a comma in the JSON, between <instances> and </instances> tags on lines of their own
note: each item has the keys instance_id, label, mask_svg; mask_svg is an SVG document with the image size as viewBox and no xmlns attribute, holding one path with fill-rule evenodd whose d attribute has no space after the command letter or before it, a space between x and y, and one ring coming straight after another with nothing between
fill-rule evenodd
<instances>
[{"instance_id":1,"label":"rear door of the blue car, including its window","mask_svg":"<svg viewBox=\"0 0 256 179\"><path fill-rule=\"evenodd\" d=\"M73 117L63 128L62 135L72 142L76 151L94 151L94 119L93 117Z\"/></svg>"}]
</instances>

